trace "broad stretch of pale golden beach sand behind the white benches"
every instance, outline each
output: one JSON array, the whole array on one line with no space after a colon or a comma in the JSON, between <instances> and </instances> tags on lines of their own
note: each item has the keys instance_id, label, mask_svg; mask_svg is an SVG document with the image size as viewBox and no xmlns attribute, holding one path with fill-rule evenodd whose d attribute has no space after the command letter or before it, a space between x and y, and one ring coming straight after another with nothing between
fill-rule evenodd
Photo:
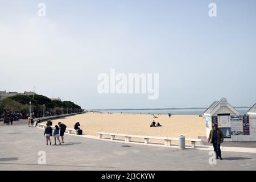
<instances>
[{"instance_id":1,"label":"broad stretch of pale golden beach sand behind the white benches","mask_svg":"<svg viewBox=\"0 0 256 182\"><path fill-rule=\"evenodd\" d=\"M178 137L180 134L186 138L205 136L205 118L198 115L172 115L171 118L168 115L155 116L158 118L151 114L85 113L55 119L52 122L53 126L62 122L70 128L73 128L76 122L80 122L83 133L94 136L97 136L98 131L155 137ZM153 120L163 126L150 127Z\"/></svg>"}]
</instances>

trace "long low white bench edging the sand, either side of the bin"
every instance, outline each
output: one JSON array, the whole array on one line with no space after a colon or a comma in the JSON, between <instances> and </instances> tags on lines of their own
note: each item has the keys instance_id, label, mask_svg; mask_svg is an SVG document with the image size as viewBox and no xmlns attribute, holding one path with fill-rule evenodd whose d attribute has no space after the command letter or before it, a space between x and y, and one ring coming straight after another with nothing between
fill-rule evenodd
<instances>
[{"instance_id":1,"label":"long low white bench edging the sand, either side of the bin","mask_svg":"<svg viewBox=\"0 0 256 182\"><path fill-rule=\"evenodd\" d=\"M144 144L148 144L149 139L157 139L157 140L164 140L165 146L171 146L172 140L179 141L179 138L172 138L172 137L152 137L152 136L143 136L143 135L127 135L127 134L117 134L117 133L107 133L107 132L98 132L98 137L102 138L102 135L110 135L110 139L114 140L115 136L118 137L125 137L125 142L130 142L131 138L143 138ZM196 142L201 142L201 139L196 138L185 138L185 141L191 141L191 147L196 147Z\"/></svg>"}]
</instances>

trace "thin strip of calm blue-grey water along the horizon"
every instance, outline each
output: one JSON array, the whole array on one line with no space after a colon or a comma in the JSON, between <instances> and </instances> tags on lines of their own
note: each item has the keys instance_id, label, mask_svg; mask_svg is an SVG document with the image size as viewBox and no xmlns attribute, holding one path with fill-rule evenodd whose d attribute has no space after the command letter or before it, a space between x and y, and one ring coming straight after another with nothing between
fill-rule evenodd
<instances>
[{"instance_id":1,"label":"thin strip of calm blue-grey water along the horizon","mask_svg":"<svg viewBox=\"0 0 256 182\"><path fill-rule=\"evenodd\" d=\"M177 115L203 115L206 109L160 109L160 110L94 110L102 113L131 113L131 114L177 114ZM249 108L236 108L240 115L247 114Z\"/></svg>"}]
</instances>

